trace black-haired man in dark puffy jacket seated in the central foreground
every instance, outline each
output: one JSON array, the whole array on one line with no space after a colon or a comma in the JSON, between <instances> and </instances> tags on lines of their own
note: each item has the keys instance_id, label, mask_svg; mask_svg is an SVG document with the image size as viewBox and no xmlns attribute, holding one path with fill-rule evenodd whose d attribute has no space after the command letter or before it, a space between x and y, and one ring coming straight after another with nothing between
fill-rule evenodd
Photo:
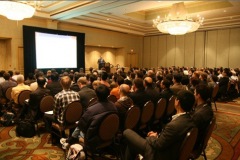
<instances>
[{"instance_id":1,"label":"black-haired man in dark puffy jacket seated in the central foreground","mask_svg":"<svg viewBox=\"0 0 240 160\"><path fill-rule=\"evenodd\" d=\"M64 149L65 146L76 143L78 138L81 142L84 139L86 146L96 147L99 143L98 128L102 119L109 113L118 113L114 103L107 100L110 90L106 85L98 85L95 91L98 101L87 108L72 136L69 139L60 140Z\"/></svg>"}]
</instances>

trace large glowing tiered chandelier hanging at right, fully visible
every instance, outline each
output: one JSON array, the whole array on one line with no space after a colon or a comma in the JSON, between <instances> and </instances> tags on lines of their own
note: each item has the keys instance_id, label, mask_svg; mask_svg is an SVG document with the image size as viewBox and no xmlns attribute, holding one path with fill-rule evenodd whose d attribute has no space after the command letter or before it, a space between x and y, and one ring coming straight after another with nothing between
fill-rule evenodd
<instances>
[{"instance_id":1,"label":"large glowing tiered chandelier hanging at right, fully visible","mask_svg":"<svg viewBox=\"0 0 240 160\"><path fill-rule=\"evenodd\" d=\"M171 35L183 35L189 32L196 31L200 25L203 24L204 18L197 16L193 21L191 16L185 9L184 3L175 3L172 5L171 11L168 16L165 15L163 20L160 16L153 20L153 27L162 33L169 33Z\"/></svg>"}]
</instances>

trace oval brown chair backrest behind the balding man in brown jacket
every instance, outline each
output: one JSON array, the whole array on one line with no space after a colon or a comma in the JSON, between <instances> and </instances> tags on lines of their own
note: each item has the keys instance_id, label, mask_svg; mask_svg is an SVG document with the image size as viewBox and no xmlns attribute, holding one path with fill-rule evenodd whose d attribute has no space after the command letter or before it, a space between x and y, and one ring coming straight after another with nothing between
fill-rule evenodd
<instances>
[{"instance_id":1,"label":"oval brown chair backrest behind the balding man in brown jacket","mask_svg":"<svg viewBox=\"0 0 240 160\"><path fill-rule=\"evenodd\" d=\"M133 129L137 125L140 115L141 111L139 107L130 107L126 113L124 129Z\"/></svg>"}]
</instances>

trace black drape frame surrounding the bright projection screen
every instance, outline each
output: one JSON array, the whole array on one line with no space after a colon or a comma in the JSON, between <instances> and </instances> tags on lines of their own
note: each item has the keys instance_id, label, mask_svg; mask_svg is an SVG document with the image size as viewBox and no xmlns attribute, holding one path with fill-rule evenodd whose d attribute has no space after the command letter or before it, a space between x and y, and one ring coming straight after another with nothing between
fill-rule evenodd
<instances>
[{"instance_id":1,"label":"black drape frame surrounding the bright projection screen","mask_svg":"<svg viewBox=\"0 0 240 160\"><path fill-rule=\"evenodd\" d=\"M68 68L70 70L79 71L79 68L85 69L85 33L61 31L40 27L32 27L23 25L23 51L24 51L24 75L34 73L36 69L36 43L35 32L68 35L77 37L77 68ZM47 58L47 57L46 57ZM62 62L60 62L62 63ZM44 73L52 68L41 69ZM65 68L55 68L57 72Z\"/></svg>"}]
</instances>

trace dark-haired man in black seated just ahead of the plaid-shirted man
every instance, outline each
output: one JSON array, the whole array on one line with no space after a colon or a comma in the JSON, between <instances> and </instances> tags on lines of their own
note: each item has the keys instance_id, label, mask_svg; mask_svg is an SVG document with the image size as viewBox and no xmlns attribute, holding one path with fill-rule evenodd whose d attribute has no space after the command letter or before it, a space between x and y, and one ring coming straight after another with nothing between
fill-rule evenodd
<instances>
[{"instance_id":1,"label":"dark-haired man in black seated just ahead of the plaid-shirted man","mask_svg":"<svg viewBox=\"0 0 240 160\"><path fill-rule=\"evenodd\" d=\"M57 72L52 73L51 75L52 82L47 84L46 86L46 88L51 91L53 97L63 90L60 82L58 81L58 78L59 76Z\"/></svg>"}]
</instances>

